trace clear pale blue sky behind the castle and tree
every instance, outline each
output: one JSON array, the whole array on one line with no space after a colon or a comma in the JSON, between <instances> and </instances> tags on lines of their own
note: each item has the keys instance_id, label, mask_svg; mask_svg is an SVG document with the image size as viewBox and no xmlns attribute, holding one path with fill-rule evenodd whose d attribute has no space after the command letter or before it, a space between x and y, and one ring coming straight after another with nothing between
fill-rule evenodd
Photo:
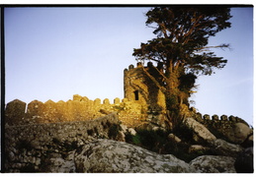
<instances>
[{"instance_id":1,"label":"clear pale blue sky behind the castle and tree","mask_svg":"<svg viewBox=\"0 0 256 177\"><path fill-rule=\"evenodd\" d=\"M149 8L6 8L6 103L20 99L124 98L124 69L136 65L133 48L155 35L145 26ZM232 27L210 39L228 60L198 78L192 104L202 114L238 116L253 124L253 9L232 8Z\"/></svg>"}]
</instances>

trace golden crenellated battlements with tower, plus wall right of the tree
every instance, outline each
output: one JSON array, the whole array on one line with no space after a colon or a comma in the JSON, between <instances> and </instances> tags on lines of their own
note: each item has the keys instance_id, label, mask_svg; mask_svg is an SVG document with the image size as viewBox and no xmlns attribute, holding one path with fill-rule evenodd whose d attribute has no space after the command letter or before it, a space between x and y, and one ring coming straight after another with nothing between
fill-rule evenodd
<instances>
[{"instance_id":1,"label":"golden crenellated battlements with tower, plus wall right of the tree","mask_svg":"<svg viewBox=\"0 0 256 177\"><path fill-rule=\"evenodd\" d=\"M125 69L125 97L123 99L116 97L113 101L110 101L109 98L91 100L79 94L74 94L72 100L59 100L57 102L34 100L27 104L15 99L6 105L5 123L8 127L87 121L105 116L111 112L117 112L119 119L128 127L158 125L170 129L173 127L173 122L167 115L165 94L148 77L149 73L157 80L162 65L157 64L156 67L153 67L152 62L148 62L146 66L143 65L138 62L136 67L129 65L128 69ZM236 123L247 124L241 118L232 115L202 115L195 108L189 110L185 104L182 111L185 118L193 117L206 127L219 131L222 135L232 131Z\"/></svg>"}]
</instances>

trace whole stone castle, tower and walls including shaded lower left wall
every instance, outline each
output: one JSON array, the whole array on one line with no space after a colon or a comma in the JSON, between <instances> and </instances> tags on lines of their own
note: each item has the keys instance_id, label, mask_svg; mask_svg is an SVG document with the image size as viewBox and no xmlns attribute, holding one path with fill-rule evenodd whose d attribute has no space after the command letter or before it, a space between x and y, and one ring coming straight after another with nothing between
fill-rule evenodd
<instances>
[{"instance_id":1,"label":"whole stone castle, tower and walls including shaded lower left wall","mask_svg":"<svg viewBox=\"0 0 256 177\"><path fill-rule=\"evenodd\" d=\"M161 66L156 66L161 70ZM161 129L172 128L166 116L165 96L147 77L157 75L151 62L147 66L137 63L124 71L125 98L115 98L111 103L108 98L90 100L86 96L73 95L72 100L30 103L15 99L5 108L5 151L7 171L21 171L34 166L42 168L46 151L54 151L50 142L79 142L90 136L108 137L111 125L122 124L129 128ZM195 108L184 106L185 117L194 118L210 130L217 132L230 143L241 143L234 138L236 123L248 124L232 115L202 115ZM78 139L79 137L79 139ZM83 144L83 142L80 142ZM72 144L66 144L72 147ZM29 148L28 148L29 147ZM26 148L26 150L25 150ZM32 150L34 149L34 150ZM61 148L62 149L62 148ZM25 150L25 151L24 151ZM63 149L62 149L63 150ZM45 154L44 154L45 153ZM26 156L26 157L24 157ZM44 157L43 157L44 156Z\"/></svg>"}]
</instances>

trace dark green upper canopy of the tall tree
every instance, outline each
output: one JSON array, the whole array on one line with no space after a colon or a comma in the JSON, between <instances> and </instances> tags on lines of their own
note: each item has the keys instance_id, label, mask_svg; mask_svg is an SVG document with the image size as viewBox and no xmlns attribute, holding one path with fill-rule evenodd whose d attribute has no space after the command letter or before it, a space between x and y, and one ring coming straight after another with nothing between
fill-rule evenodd
<instances>
[{"instance_id":1,"label":"dark green upper canopy of the tall tree","mask_svg":"<svg viewBox=\"0 0 256 177\"><path fill-rule=\"evenodd\" d=\"M155 7L146 13L148 27L153 26L156 38L141 43L133 55L159 62L183 62L190 68L203 70L226 63L213 52L207 53L210 36L231 27L230 9L225 7ZM227 47L222 44L219 47ZM201 52L201 53L200 53ZM198 54L200 53L200 54ZM188 65L187 65L188 64Z\"/></svg>"}]
</instances>

